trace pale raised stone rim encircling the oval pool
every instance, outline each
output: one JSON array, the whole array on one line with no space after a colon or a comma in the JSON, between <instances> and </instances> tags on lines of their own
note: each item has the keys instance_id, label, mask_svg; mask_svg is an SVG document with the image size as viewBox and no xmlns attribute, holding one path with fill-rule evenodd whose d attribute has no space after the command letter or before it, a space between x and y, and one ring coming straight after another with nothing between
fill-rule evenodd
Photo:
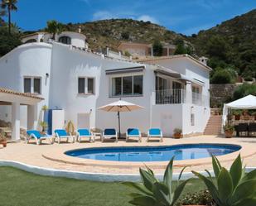
<instances>
[{"instance_id":1,"label":"pale raised stone rim encircling the oval pool","mask_svg":"<svg viewBox=\"0 0 256 206\"><path fill-rule=\"evenodd\" d=\"M246 158L248 156L253 156L256 154L256 150L246 150L246 145L247 143L240 143L240 144L229 144L229 143L187 143L183 145L190 145L190 144L214 144L214 145L230 145L230 146L242 146L242 148L239 151L234 151L232 153L229 153L227 155L223 156L218 156L218 159L221 162L227 162L230 160L234 160L236 156L239 154L241 155L242 158ZM177 146L177 145L182 145L181 143L177 144L172 144L171 146ZM165 145L169 146L169 145ZM104 146L104 148L109 147L133 147L133 146ZM143 146L147 147L147 146ZM151 147L151 146L148 146ZM245 147L245 148L244 148ZM102 148L102 146L92 146L92 147L85 147L85 149L88 148ZM77 150L81 150L83 148L79 148ZM70 150L69 150L70 151ZM145 161L145 162L131 162L131 161L109 161L109 160L91 160L91 159L82 159L79 157L74 157L74 156L67 156L65 155L65 150L60 151L49 151L43 153L41 156L46 158L47 160L53 160L56 162L61 162L65 164L71 164L71 165L89 165L89 166L101 166L101 167L109 167L111 166L112 168L139 168L139 167L145 167L145 165L151 167L152 169L165 169L166 165L168 164L168 161ZM206 157L206 158L200 158L200 159L195 159L195 160L175 160L173 165L174 167L181 168L184 166L198 166L198 165L209 165L211 164L211 158Z\"/></svg>"}]
</instances>

